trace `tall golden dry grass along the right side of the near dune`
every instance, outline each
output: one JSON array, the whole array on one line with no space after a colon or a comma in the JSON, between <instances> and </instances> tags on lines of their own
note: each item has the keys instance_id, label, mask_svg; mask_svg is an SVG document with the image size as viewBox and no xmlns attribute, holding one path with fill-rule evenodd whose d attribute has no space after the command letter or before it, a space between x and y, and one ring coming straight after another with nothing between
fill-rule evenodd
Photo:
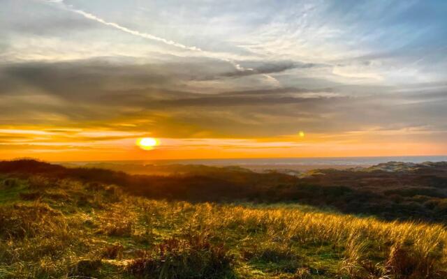
<instances>
[{"instance_id":1,"label":"tall golden dry grass along the right side of the near dune","mask_svg":"<svg viewBox=\"0 0 447 279\"><path fill-rule=\"evenodd\" d=\"M341 276L349 278L447 278L444 226L383 222L337 213L297 209L256 209L238 205L168 203L140 199L145 214L184 219L183 229L205 231L220 241L263 236L266 247L256 257L294 257L287 243L332 243L343 251ZM162 209L162 210L161 210ZM236 233L236 234L235 234ZM236 237L235 237L236 235ZM236 238L236 239L235 239ZM281 243L272 250L271 243ZM260 250L258 247L257 250ZM255 250L256 250L255 249ZM264 250L262 250L264 249ZM275 250L276 249L276 250ZM255 251L256 253L256 251ZM251 256L254 257L254 256Z\"/></svg>"}]
</instances>

